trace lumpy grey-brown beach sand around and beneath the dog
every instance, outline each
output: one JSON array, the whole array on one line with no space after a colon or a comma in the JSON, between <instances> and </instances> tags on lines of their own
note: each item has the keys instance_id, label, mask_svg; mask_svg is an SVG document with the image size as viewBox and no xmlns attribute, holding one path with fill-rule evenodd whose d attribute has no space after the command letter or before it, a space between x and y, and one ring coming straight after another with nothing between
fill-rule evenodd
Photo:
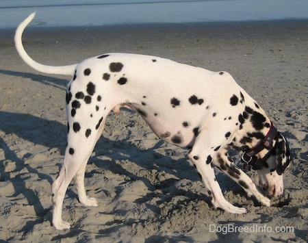
<instances>
[{"instance_id":1,"label":"lumpy grey-brown beach sand around and beneath the dog","mask_svg":"<svg viewBox=\"0 0 308 243\"><path fill-rule=\"evenodd\" d=\"M81 205L69 186L63 218L72 228L65 231L51 226L51 183L64 158L69 77L29 68L14 49L14 31L0 31L0 239L307 242L307 26L307 21L279 21L26 29L25 49L44 64L128 52L228 71L266 110L294 155L285 173L285 194L272 207L248 199L216 170L227 201L248 210L234 215L211 206L186 159L188 151L156 138L133 112L111 113L86 170L86 190L99 207ZM233 158L239 161L235 153ZM257 181L256 172L247 173Z\"/></svg>"}]
</instances>

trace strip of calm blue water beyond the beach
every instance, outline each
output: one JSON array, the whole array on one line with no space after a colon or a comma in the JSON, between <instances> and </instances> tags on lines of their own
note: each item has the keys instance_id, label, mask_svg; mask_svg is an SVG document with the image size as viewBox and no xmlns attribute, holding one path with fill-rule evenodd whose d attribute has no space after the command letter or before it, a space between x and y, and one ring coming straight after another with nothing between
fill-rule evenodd
<instances>
[{"instance_id":1,"label":"strip of calm blue water beyond the beach","mask_svg":"<svg viewBox=\"0 0 308 243\"><path fill-rule=\"evenodd\" d=\"M0 29L308 19L308 0L0 0Z\"/></svg>"}]
</instances>

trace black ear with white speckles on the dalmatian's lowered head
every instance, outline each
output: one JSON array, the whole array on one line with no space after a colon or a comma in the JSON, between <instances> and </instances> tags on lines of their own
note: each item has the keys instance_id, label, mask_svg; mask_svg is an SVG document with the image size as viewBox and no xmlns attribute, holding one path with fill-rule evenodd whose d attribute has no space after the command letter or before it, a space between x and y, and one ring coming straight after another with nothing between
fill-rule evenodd
<instances>
[{"instance_id":1,"label":"black ear with white speckles on the dalmatian's lowered head","mask_svg":"<svg viewBox=\"0 0 308 243\"><path fill-rule=\"evenodd\" d=\"M285 137L281 133L277 133L277 138L276 171L278 175L282 175L282 173L289 168L290 162L293 162L293 158Z\"/></svg>"}]
</instances>

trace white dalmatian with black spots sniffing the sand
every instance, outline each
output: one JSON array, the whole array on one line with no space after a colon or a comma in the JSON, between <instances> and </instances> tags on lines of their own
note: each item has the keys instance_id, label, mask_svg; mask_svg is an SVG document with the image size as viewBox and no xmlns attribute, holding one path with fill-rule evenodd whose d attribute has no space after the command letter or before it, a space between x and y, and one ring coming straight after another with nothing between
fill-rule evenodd
<instances>
[{"instance_id":1,"label":"white dalmatian with black spots sniffing the sand","mask_svg":"<svg viewBox=\"0 0 308 243\"><path fill-rule=\"evenodd\" d=\"M27 55L22 43L23 31L34 16L29 15L16 29L19 55L36 71L72 77L66 92L67 147L62 169L52 185L56 229L70 228L62 220L62 203L72 179L79 201L98 205L96 199L86 195L86 164L107 115L123 106L138 112L162 140L190 149L188 158L201 175L214 207L233 214L246 213L246 209L224 199L214 166L248 196L270 206L270 199L233 164L229 149L243 152L243 162L257 170L259 186L268 196L283 193L282 174L292 161L287 141L229 73L128 53L107 53L68 66L39 64Z\"/></svg>"}]
</instances>

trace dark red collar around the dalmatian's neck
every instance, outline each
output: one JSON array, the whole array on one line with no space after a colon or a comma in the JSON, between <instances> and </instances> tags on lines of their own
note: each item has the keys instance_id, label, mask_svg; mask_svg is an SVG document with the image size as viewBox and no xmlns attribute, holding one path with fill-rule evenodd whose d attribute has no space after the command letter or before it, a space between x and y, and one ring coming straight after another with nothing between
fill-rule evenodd
<instances>
[{"instance_id":1,"label":"dark red collar around the dalmatian's neck","mask_svg":"<svg viewBox=\"0 0 308 243\"><path fill-rule=\"evenodd\" d=\"M242 159L244 160L244 162L251 162L251 158L264 149L272 149L272 141L274 140L274 138L276 138L276 136L277 127L276 125L274 125L274 123L270 122L270 130L268 131L268 134L266 134L265 138L263 140L260 140L251 149L248 149L243 153Z\"/></svg>"}]
</instances>

